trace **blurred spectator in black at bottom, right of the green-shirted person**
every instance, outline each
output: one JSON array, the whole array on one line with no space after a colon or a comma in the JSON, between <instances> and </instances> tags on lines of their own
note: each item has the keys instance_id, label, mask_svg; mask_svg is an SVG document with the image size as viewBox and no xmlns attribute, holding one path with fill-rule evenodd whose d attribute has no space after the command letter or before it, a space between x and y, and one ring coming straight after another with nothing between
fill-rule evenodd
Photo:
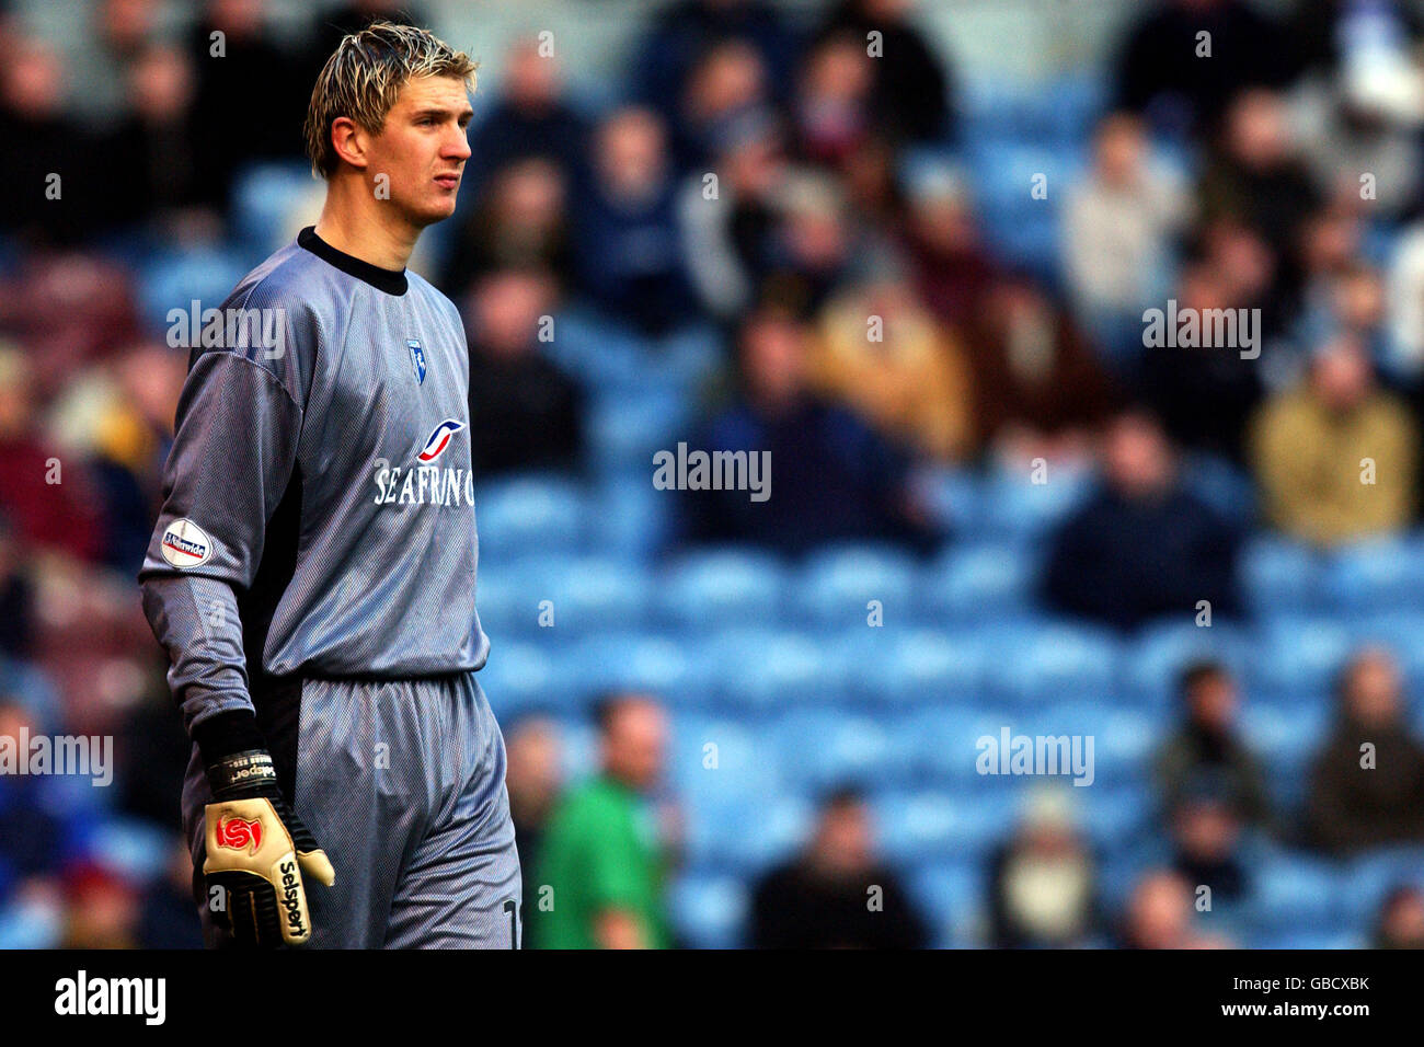
<instances>
[{"instance_id":1,"label":"blurred spectator in black at bottom, right of the green-shirted person","mask_svg":"<svg viewBox=\"0 0 1424 1047\"><path fill-rule=\"evenodd\" d=\"M854 789L822 803L806 849L766 873L752 900L755 949L924 949L924 917L874 853L870 811Z\"/></svg>"}]
</instances>

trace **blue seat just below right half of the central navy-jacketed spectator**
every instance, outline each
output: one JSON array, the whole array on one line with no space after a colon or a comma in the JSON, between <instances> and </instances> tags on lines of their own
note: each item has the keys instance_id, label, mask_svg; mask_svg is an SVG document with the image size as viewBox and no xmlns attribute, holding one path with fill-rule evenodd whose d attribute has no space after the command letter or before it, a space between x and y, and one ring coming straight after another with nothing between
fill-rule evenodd
<instances>
[{"instance_id":1,"label":"blue seat just below right half of the central navy-jacketed spectator","mask_svg":"<svg viewBox=\"0 0 1424 1047\"><path fill-rule=\"evenodd\" d=\"M914 561L880 546L840 546L812 556L792 580L787 610L827 625L864 625L871 600L886 620L914 614Z\"/></svg>"}]
</instances>

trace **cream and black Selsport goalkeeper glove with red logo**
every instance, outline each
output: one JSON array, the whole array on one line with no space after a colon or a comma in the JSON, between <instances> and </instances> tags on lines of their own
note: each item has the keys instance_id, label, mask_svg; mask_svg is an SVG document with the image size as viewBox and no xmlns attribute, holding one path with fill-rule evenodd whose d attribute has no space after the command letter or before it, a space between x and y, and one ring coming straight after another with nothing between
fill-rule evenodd
<instances>
[{"instance_id":1,"label":"cream and black Selsport goalkeeper glove with red logo","mask_svg":"<svg viewBox=\"0 0 1424 1047\"><path fill-rule=\"evenodd\" d=\"M312 936L303 872L328 887L336 870L276 785L272 756L261 748L208 764L212 802L206 808L208 889L225 905L214 922L239 946L298 946Z\"/></svg>"}]
</instances>

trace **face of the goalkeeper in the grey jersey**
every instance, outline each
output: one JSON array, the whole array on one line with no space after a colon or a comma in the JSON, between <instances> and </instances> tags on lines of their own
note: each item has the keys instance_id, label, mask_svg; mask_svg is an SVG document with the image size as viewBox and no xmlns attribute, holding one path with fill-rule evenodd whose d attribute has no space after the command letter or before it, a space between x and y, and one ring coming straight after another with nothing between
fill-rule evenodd
<instances>
[{"instance_id":1,"label":"face of the goalkeeper in the grey jersey","mask_svg":"<svg viewBox=\"0 0 1424 1047\"><path fill-rule=\"evenodd\" d=\"M376 179L386 175L390 204L416 228L454 214L473 115L463 80L420 77L400 88L380 134L367 137L366 178L380 194Z\"/></svg>"}]
</instances>

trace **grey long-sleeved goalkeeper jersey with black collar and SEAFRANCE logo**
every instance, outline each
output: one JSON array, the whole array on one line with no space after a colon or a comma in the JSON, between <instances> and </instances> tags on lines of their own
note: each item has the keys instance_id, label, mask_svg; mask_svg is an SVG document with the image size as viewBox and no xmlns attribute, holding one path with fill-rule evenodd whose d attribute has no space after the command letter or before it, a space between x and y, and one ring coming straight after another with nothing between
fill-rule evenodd
<instances>
[{"instance_id":1,"label":"grey long-sleeved goalkeeper jersey with black collar and SEAFRANCE logo","mask_svg":"<svg viewBox=\"0 0 1424 1047\"><path fill-rule=\"evenodd\" d=\"M185 726L271 678L484 665L456 308L308 228L212 319L138 573Z\"/></svg>"}]
</instances>

